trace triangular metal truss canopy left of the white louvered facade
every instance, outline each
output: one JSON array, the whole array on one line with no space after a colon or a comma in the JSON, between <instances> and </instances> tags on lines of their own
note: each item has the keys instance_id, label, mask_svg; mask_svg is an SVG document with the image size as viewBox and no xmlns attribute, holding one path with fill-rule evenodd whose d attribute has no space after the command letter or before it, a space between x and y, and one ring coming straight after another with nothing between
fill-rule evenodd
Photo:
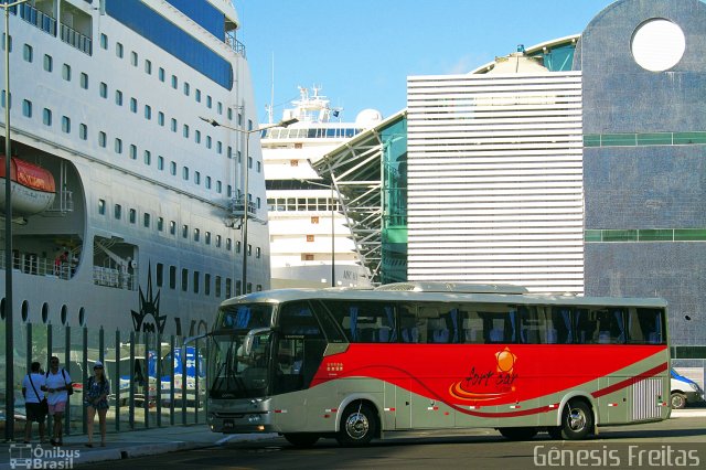
<instances>
[{"instance_id":1,"label":"triangular metal truss canopy left of the white louvered facade","mask_svg":"<svg viewBox=\"0 0 706 470\"><path fill-rule=\"evenodd\" d=\"M383 131L405 119L402 110L367 129L311 165L333 184L351 229L359 260L379 282L383 231Z\"/></svg>"}]
</instances>

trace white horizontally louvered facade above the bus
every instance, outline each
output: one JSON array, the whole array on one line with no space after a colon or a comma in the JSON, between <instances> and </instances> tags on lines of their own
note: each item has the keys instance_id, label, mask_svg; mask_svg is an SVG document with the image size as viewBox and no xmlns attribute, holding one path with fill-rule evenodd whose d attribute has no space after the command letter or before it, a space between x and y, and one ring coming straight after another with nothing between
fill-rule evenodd
<instances>
[{"instance_id":1,"label":"white horizontally louvered facade above the bus","mask_svg":"<svg viewBox=\"0 0 706 470\"><path fill-rule=\"evenodd\" d=\"M410 76L408 279L584 293L580 72Z\"/></svg>"}]
</instances>

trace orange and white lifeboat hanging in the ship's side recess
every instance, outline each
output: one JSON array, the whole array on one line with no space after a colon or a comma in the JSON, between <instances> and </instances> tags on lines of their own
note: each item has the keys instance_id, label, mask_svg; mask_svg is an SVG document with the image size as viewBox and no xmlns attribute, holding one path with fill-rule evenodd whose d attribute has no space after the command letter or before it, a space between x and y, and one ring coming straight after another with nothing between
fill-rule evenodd
<instances>
[{"instance_id":1,"label":"orange and white lifeboat hanging in the ship's side recess","mask_svg":"<svg viewBox=\"0 0 706 470\"><path fill-rule=\"evenodd\" d=\"M0 206L4 210L4 156L0 156ZM17 157L10 159L12 215L32 215L46 211L54 203L56 188L49 170Z\"/></svg>"}]
</instances>

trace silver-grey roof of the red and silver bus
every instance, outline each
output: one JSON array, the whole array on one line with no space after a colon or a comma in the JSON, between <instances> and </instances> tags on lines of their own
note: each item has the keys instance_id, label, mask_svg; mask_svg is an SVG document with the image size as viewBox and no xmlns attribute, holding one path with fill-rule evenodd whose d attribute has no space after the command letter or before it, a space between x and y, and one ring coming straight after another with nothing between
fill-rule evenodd
<instances>
[{"instance_id":1,"label":"silver-grey roof of the red and silver bus","mask_svg":"<svg viewBox=\"0 0 706 470\"><path fill-rule=\"evenodd\" d=\"M453 286L453 284L449 284ZM505 286L507 287L507 286ZM524 288L520 288L524 289ZM482 290L482 289L481 289ZM643 307L666 308L662 298L584 297L570 295L539 295L516 292L468 292L463 290L399 290L399 289L276 289L253 292L224 300L221 306L239 303L281 303L292 300L360 300L360 301L427 301L427 302L489 302L556 306Z\"/></svg>"}]
</instances>

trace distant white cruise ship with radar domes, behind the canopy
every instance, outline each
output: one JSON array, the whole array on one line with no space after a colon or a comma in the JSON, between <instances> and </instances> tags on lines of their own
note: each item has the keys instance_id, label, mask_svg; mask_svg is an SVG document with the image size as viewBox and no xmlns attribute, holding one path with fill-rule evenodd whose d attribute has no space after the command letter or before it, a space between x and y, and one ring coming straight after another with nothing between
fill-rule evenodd
<instances>
[{"instance_id":1,"label":"distant white cruise ship with radar domes, behind the canopy","mask_svg":"<svg viewBox=\"0 0 706 470\"><path fill-rule=\"evenodd\" d=\"M370 273L360 263L336 182L322 179L310 162L378 124L382 116L366 109L354 122L342 122L342 109L332 108L320 88L299 92L282 119L299 122L261 132L272 288L368 287Z\"/></svg>"}]
</instances>

